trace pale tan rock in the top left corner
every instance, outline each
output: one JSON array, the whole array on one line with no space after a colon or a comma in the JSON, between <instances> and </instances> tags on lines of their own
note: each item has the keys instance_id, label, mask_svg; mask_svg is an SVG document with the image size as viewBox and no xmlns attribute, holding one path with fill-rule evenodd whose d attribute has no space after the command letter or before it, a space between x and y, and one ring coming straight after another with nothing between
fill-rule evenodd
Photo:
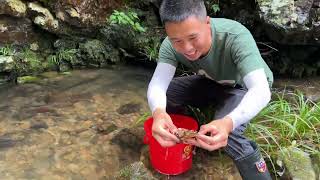
<instances>
[{"instance_id":1,"label":"pale tan rock in the top left corner","mask_svg":"<svg viewBox=\"0 0 320 180\"><path fill-rule=\"evenodd\" d=\"M0 14L24 17L27 6L20 0L0 0Z\"/></svg>"}]
</instances>

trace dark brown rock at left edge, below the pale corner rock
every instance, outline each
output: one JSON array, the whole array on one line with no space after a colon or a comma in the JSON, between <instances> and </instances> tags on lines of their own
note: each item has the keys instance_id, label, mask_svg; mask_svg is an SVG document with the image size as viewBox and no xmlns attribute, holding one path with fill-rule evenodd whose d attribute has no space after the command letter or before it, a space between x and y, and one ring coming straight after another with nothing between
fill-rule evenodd
<instances>
[{"instance_id":1,"label":"dark brown rock at left edge, below the pale corner rock","mask_svg":"<svg viewBox=\"0 0 320 180\"><path fill-rule=\"evenodd\" d=\"M29 19L0 16L0 44L26 44L35 40Z\"/></svg>"}]
</instances>

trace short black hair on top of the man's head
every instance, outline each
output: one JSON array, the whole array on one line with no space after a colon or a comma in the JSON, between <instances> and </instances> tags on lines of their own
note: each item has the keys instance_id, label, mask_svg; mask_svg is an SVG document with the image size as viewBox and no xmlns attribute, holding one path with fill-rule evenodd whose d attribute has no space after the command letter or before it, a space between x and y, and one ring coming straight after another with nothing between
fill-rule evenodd
<instances>
[{"instance_id":1,"label":"short black hair on top of the man's head","mask_svg":"<svg viewBox=\"0 0 320 180\"><path fill-rule=\"evenodd\" d=\"M160 18L166 22L181 22L195 16L205 20L207 10L203 0L163 0L160 7Z\"/></svg>"}]
</instances>

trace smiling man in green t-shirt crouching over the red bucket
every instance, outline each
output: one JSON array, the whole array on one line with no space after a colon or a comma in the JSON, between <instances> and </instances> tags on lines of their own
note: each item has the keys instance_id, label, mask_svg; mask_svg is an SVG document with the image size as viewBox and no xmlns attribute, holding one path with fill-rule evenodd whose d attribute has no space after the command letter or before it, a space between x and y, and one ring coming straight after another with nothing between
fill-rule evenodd
<instances>
[{"instance_id":1,"label":"smiling man in green t-shirt crouching over the red bucket","mask_svg":"<svg viewBox=\"0 0 320 180\"><path fill-rule=\"evenodd\" d=\"M270 101L273 82L250 32L236 21L208 17L202 0L164 0L160 16L167 38L148 87L154 138L164 147L175 145L177 128L168 113L214 104L215 119L188 143L224 148L245 180L271 179L257 145L243 136ZM173 78L178 63L202 75Z\"/></svg>"}]
</instances>

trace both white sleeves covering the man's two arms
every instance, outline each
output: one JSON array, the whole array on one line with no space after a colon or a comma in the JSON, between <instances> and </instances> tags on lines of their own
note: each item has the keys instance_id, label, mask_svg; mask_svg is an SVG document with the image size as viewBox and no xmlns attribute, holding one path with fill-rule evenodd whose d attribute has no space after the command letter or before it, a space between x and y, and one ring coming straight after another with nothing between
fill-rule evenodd
<instances>
[{"instance_id":1,"label":"both white sleeves covering the man's two arms","mask_svg":"<svg viewBox=\"0 0 320 180\"><path fill-rule=\"evenodd\" d=\"M147 98L151 111L166 109L166 92L174 76L176 67L168 63L158 63L148 86ZM240 104L227 116L233 121L233 129L250 121L270 101L271 92L263 69L257 69L243 77L248 92Z\"/></svg>"}]
</instances>

